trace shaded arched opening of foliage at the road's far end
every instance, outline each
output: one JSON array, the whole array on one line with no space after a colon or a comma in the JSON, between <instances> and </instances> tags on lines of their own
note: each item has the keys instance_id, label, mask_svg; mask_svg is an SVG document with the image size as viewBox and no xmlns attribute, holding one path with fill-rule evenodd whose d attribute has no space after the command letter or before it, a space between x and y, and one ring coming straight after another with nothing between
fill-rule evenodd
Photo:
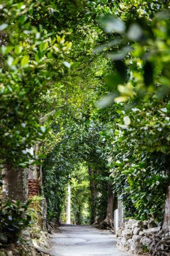
<instances>
[{"instance_id":1,"label":"shaded arched opening of foliage at the road's far end","mask_svg":"<svg viewBox=\"0 0 170 256\"><path fill-rule=\"evenodd\" d=\"M72 154L71 158L62 155L58 159L56 152L50 153L44 161L42 179L48 205L48 221L113 227L116 197L113 195L108 170L105 170L104 164L101 166L102 161L97 160L97 156L93 156L97 162L93 162L94 158L88 162L82 156L77 158L76 154L74 158ZM105 224L102 226L103 220Z\"/></svg>"}]
</instances>

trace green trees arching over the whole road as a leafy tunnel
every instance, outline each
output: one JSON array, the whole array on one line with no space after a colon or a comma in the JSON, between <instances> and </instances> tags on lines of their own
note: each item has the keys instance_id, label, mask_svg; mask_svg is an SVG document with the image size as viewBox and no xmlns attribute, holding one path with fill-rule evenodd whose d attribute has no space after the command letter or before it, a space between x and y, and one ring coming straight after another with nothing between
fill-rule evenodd
<instances>
[{"instance_id":1,"label":"green trees arching over the whole road as a leafy tunnel","mask_svg":"<svg viewBox=\"0 0 170 256\"><path fill-rule=\"evenodd\" d=\"M168 2L2 0L0 243L28 226L28 197L44 228L64 218L69 182L75 223L112 227L121 200L170 226Z\"/></svg>"}]
</instances>

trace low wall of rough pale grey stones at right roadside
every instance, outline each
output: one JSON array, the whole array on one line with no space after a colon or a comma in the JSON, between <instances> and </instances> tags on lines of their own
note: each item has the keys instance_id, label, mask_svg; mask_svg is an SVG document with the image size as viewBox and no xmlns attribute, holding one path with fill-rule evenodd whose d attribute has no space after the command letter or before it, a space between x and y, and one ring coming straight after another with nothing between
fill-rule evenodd
<instances>
[{"instance_id":1,"label":"low wall of rough pale grey stones at right roadside","mask_svg":"<svg viewBox=\"0 0 170 256\"><path fill-rule=\"evenodd\" d=\"M161 229L155 222L130 219L116 232L117 247L134 255L170 256L169 231L170 227Z\"/></svg>"}]
</instances>

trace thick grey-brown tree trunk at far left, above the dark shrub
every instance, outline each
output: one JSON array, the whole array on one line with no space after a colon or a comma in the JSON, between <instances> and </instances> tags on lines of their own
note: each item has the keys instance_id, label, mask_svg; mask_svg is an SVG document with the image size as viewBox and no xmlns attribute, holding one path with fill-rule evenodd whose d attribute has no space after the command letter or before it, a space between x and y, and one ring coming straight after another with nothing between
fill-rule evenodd
<instances>
[{"instance_id":1,"label":"thick grey-brown tree trunk at far left, above the dark shrub","mask_svg":"<svg viewBox=\"0 0 170 256\"><path fill-rule=\"evenodd\" d=\"M5 164L3 168L3 197L22 202L28 199L27 169L16 169Z\"/></svg>"}]
</instances>

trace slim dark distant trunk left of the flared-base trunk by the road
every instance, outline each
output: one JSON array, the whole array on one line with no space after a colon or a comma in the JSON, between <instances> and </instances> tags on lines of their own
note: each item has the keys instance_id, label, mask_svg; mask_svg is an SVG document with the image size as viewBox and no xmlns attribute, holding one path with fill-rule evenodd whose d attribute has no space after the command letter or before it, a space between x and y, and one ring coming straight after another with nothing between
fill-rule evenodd
<instances>
[{"instance_id":1,"label":"slim dark distant trunk left of the flared-base trunk by the road","mask_svg":"<svg viewBox=\"0 0 170 256\"><path fill-rule=\"evenodd\" d=\"M91 191L91 224L97 222L96 205L97 193L95 189L94 172L89 167L90 191Z\"/></svg>"}]
</instances>

